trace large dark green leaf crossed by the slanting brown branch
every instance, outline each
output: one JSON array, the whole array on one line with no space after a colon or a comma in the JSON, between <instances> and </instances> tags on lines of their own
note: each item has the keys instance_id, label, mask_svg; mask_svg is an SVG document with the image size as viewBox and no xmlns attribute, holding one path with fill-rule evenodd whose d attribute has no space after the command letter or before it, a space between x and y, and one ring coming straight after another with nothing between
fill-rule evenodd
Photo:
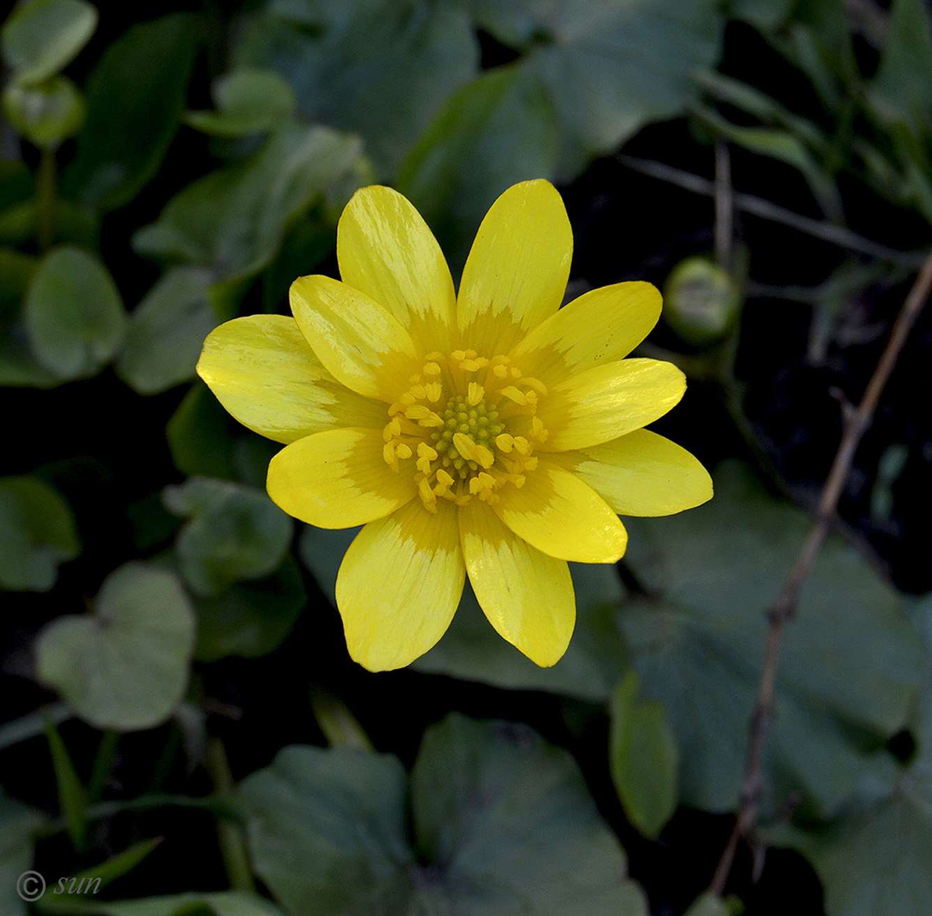
<instances>
[{"instance_id":1,"label":"large dark green leaf crossed by the slanting brown branch","mask_svg":"<svg viewBox=\"0 0 932 916\"><path fill-rule=\"evenodd\" d=\"M737 465L689 513L628 519L627 562L650 598L632 598L621 628L643 696L677 735L682 800L737 803L767 622L810 527ZM898 596L843 540L829 538L788 623L765 759L765 801L802 793L816 813L853 790L865 752L903 727L923 653Z\"/></svg>"}]
</instances>

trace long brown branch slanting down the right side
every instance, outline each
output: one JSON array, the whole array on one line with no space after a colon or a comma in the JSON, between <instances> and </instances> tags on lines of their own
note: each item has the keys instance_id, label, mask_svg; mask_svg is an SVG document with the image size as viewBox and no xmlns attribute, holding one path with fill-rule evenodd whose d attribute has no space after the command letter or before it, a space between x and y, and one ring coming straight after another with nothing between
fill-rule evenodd
<instances>
[{"instance_id":1,"label":"long brown branch slanting down the right side","mask_svg":"<svg viewBox=\"0 0 932 916\"><path fill-rule=\"evenodd\" d=\"M897 364L899 354L906 343L906 338L925 305L930 289L932 289L932 253L926 255L925 264L912 284L906 301L899 310L897 321L890 333L890 339L886 343L873 375L870 376L861 403L857 405L857 410L850 417L845 418L842 443L839 445L835 460L832 462L829 471L828 480L826 480L822 489L816 513L816 522L803 543L802 549L796 557L796 562L790 570L787 580L783 583L780 594L777 595L776 601L767 612L770 626L767 631L767 642L761 665L761 681L758 686L757 702L750 721L750 740L747 746L747 760L738 813L734 821L732 835L729 837L728 844L721 855L719 867L716 868L715 876L709 885L709 890L717 895L721 895L725 889L725 883L728 881L728 876L732 870L738 842L743 837L748 840L751 839L757 826L763 789L763 746L774 716L776 669L784 630L787 622L796 611L802 583L809 576L819 548L829 532L829 526L838 508L838 500L842 495L844 481L851 470L857 445L870 426L870 421L877 409L877 403L880 401L884 385L886 385L887 379Z\"/></svg>"}]
</instances>

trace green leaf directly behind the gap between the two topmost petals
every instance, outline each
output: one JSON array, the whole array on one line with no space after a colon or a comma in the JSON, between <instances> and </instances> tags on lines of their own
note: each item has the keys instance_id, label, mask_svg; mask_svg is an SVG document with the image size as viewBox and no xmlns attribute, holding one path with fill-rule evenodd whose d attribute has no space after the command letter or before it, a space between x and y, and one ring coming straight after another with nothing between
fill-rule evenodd
<instances>
[{"instance_id":1,"label":"green leaf directly behind the gap between the two topmost petals","mask_svg":"<svg viewBox=\"0 0 932 916\"><path fill-rule=\"evenodd\" d=\"M441 240L454 267L502 191L556 169L559 130L536 75L488 71L445 104L398 173L398 189Z\"/></svg>"}]
</instances>

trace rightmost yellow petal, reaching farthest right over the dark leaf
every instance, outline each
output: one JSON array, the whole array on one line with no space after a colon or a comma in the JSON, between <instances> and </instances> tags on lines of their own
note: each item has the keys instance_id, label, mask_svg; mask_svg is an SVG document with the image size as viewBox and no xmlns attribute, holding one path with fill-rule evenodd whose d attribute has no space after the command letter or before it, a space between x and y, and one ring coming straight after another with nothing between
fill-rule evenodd
<instances>
[{"instance_id":1,"label":"rightmost yellow petal, reaching farthest right over the dark leaf","mask_svg":"<svg viewBox=\"0 0 932 916\"><path fill-rule=\"evenodd\" d=\"M706 469L685 448L650 430L548 457L577 474L619 515L672 515L712 499Z\"/></svg>"}]
</instances>

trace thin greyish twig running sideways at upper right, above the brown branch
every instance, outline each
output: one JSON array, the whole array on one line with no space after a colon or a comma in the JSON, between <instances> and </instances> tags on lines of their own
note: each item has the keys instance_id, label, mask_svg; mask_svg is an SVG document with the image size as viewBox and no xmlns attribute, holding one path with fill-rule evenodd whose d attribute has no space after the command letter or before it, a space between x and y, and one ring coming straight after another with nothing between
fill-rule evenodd
<instances>
[{"instance_id":1,"label":"thin greyish twig running sideways at upper right, above the brown branch","mask_svg":"<svg viewBox=\"0 0 932 916\"><path fill-rule=\"evenodd\" d=\"M616 158L622 165L639 171L643 175L659 178L661 181L677 185L687 191L692 191L694 194L715 197L715 183L703 178L701 175L694 175L691 171L677 169L674 166L666 165L665 162L638 159L624 153L619 153ZM880 242L871 241L857 235L857 232L852 232L845 226L829 223L828 220L815 220L808 216L802 216L779 206L779 204L775 204L771 200L756 198L751 194L734 192L732 202L737 210L760 216L761 219L770 220L772 223L790 226L804 232L806 235L822 239L849 252L868 254L870 257L880 258L889 261L891 264L902 264L913 269L922 267L925 260L925 252L900 252L895 248L888 248Z\"/></svg>"}]
</instances>

